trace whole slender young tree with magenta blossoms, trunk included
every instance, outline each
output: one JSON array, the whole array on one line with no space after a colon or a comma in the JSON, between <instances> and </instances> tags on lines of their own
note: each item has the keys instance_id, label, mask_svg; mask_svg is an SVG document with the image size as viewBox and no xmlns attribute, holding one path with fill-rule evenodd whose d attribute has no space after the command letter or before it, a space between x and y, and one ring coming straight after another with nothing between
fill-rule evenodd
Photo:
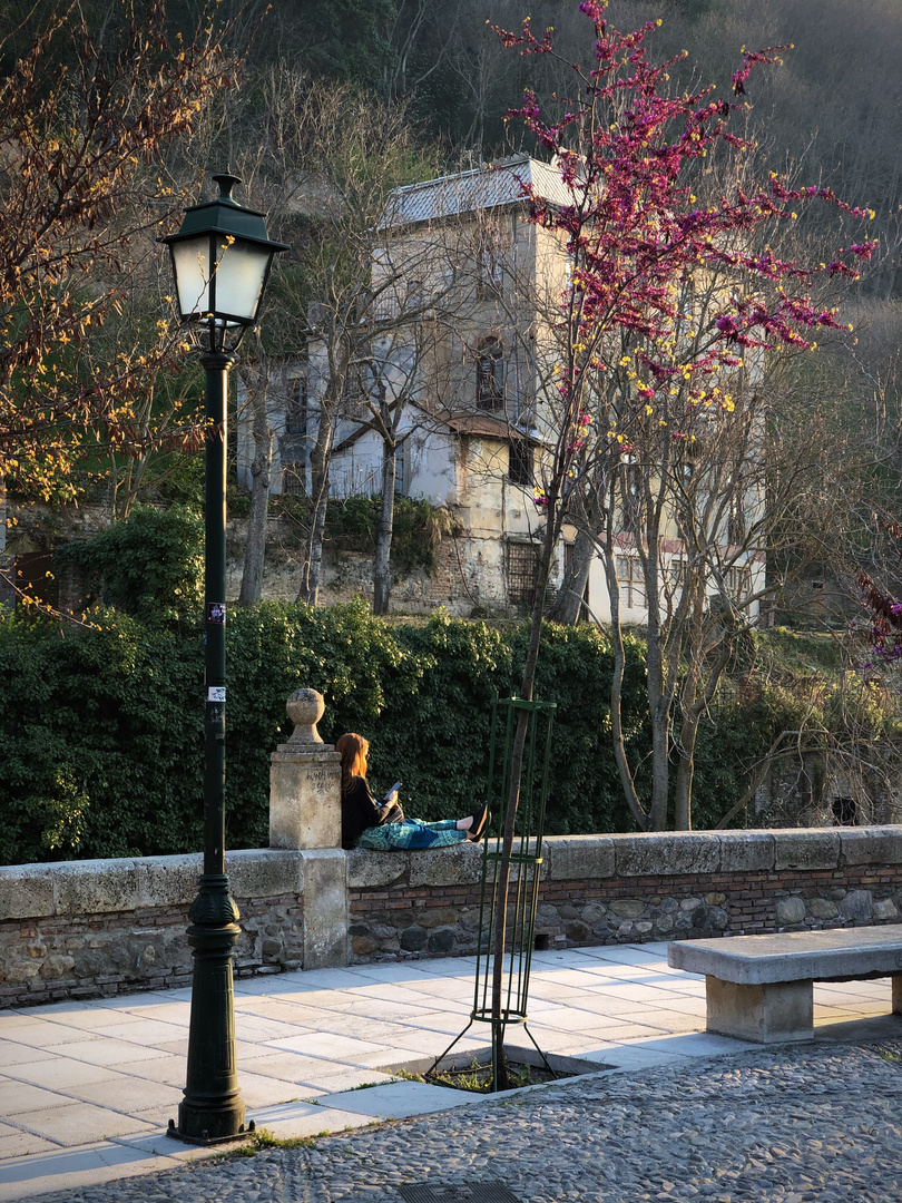
<instances>
[{"instance_id":1,"label":"whole slender young tree with magenta blossoms, trunk included","mask_svg":"<svg viewBox=\"0 0 902 1203\"><path fill-rule=\"evenodd\" d=\"M658 23L622 34L606 20L604 2L583 0L580 10L591 24L591 45L587 65L569 65L570 96L544 103L527 91L508 114L557 165L568 194L568 203L553 205L523 188L528 221L551 232L568 259L568 284L550 320L553 363L542 374L547 383L538 405L546 442L536 486L544 532L523 698L533 694L542 604L564 523L578 526L593 504L604 510L605 481L622 475L637 450L653 449L659 461L682 455L702 422L710 431L729 419L738 403L725 381L750 362L787 346L814 346L819 330L837 326L836 312L813 300L815 283L854 277L856 261L874 247L858 242L815 265L781 259L772 249L777 230L802 206L820 202L845 218L870 215L827 188L789 186L773 173L758 186L743 180L754 147L730 124L746 107L753 69L778 61L784 47L743 52L730 99L712 89L671 95L672 63L653 65L646 52ZM523 55L556 54L552 30L538 37L529 20L518 34L495 32ZM719 195L699 201L716 161L730 166L725 184ZM649 595L649 610L657 604ZM621 764L645 829L666 822L673 704L667 671L649 639L649 700L663 733L652 752L659 771L651 799L637 798L623 758ZM615 735L618 722L615 686ZM512 845L523 736L524 724L514 745L503 858ZM502 873L499 915L506 887ZM495 964L504 948L498 926Z\"/></svg>"}]
</instances>

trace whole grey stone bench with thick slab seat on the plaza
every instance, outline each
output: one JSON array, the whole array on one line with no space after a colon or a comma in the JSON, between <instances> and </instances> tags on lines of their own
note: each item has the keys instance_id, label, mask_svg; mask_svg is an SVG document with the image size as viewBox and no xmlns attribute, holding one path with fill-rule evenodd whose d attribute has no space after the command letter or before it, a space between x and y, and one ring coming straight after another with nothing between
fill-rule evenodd
<instances>
[{"instance_id":1,"label":"whole grey stone bench with thick slab seat on the plaza","mask_svg":"<svg viewBox=\"0 0 902 1203\"><path fill-rule=\"evenodd\" d=\"M891 977L902 1014L902 925L687 940L667 965L705 974L707 1030L740 1039L811 1039L814 982Z\"/></svg>"}]
</instances>

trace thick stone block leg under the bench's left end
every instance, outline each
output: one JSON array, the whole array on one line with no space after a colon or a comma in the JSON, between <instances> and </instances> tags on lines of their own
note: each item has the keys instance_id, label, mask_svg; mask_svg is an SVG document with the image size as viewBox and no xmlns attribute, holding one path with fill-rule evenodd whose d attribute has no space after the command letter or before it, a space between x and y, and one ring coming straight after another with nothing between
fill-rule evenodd
<instances>
[{"instance_id":1,"label":"thick stone block leg under the bench's left end","mask_svg":"<svg viewBox=\"0 0 902 1203\"><path fill-rule=\"evenodd\" d=\"M710 1032L762 1044L808 1041L814 1035L811 982L736 985L707 977L705 983Z\"/></svg>"}]
</instances>

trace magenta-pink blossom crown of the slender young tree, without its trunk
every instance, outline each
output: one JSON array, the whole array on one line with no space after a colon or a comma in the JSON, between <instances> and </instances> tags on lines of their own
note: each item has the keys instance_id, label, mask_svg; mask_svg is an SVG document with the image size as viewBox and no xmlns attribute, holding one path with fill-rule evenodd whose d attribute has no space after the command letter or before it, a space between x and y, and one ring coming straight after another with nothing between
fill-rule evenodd
<instances>
[{"instance_id":1,"label":"magenta-pink blossom crown of the slender young tree, without its trunk","mask_svg":"<svg viewBox=\"0 0 902 1203\"><path fill-rule=\"evenodd\" d=\"M569 350L557 393L564 409L560 446L564 461L572 462L587 455L588 425L578 428L587 378L607 375L629 385L624 396L634 413L609 432L613 455L631 449L627 433L640 420L664 439L684 442L698 407L732 411L712 381L741 368L747 352L811 348L819 330L839 325L833 310L814 302L813 285L819 277L854 275L853 262L874 249L873 242L860 241L838 249L829 263L807 263L762 245L759 232L795 220L796 211L811 203L855 219L872 217L827 188L791 188L771 173L760 185L734 183L706 202L692 192L699 160L720 146L740 160L754 149L728 126L747 107L740 97L754 69L778 63L788 47L743 52L731 99L716 96L713 88L675 95L669 71L678 58L654 65L646 49L659 22L623 34L606 20L605 0L582 0L578 7L593 23L594 61L569 64L574 88L569 99L556 97L559 114L546 117L532 89L508 113L553 156L569 201L552 203L522 185L528 220L559 235L571 263L559 320ZM539 38L528 20L521 34L493 28L521 54L556 55L551 30ZM714 273L728 286L707 298L702 331L693 282ZM634 350L622 371L605 349L627 344ZM682 413L675 396L682 398ZM572 464L562 461L560 472L572 476Z\"/></svg>"}]
</instances>

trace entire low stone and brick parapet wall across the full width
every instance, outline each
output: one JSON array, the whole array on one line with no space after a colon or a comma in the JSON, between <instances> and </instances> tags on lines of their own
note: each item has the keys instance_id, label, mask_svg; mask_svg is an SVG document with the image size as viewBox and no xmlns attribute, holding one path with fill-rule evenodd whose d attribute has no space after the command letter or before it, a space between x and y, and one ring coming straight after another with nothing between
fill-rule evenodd
<instances>
[{"instance_id":1,"label":"entire low stone and brick parapet wall across the full width","mask_svg":"<svg viewBox=\"0 0 902 1203\"><path fill-rule=\"evenodd\" d=\"M476 950L475 845L261 849L226 860L242 912L238 976ZM0 1006L185 984L200 872L200 855L0 867ZM536 936L551 947L901 915L902 826L551 836L542 845Z\"/></svg>"}]
</instances>

